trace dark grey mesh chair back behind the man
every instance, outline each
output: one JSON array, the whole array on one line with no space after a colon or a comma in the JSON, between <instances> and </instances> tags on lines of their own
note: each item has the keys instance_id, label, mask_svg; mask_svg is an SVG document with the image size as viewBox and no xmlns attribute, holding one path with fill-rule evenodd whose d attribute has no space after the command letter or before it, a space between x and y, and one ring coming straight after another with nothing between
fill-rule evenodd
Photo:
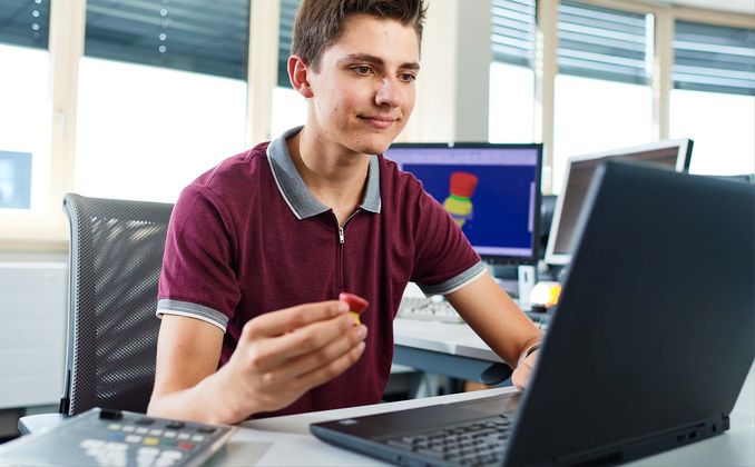
<instances>
[{"instance_id":1,"label":"dark grey mesh chair back behind the man","mask_svg":"<svg viewBox=\"0 0 755 467\"><path fill-rule=\"evenodd\" d=\"M155 378L157 281L173 205L68 193L70 290L60 411L145 413Z\"/></svg>"}]
</instances>

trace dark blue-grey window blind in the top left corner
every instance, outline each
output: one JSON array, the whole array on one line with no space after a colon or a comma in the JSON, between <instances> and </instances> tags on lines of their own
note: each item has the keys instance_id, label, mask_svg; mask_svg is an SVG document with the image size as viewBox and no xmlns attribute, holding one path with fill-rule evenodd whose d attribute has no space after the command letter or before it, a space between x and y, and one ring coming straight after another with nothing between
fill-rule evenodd
<instances>
[{"instance_id":1,"label":"dark blue-grey window blind in the top left corner","mask_svg":"<svg viewBox=\"0 0 755 467\"><path fill-rule=\"evenodd\" d=\"M47 49L50 0L0 0L0 43Z\"/></svg>"}]
</instances>

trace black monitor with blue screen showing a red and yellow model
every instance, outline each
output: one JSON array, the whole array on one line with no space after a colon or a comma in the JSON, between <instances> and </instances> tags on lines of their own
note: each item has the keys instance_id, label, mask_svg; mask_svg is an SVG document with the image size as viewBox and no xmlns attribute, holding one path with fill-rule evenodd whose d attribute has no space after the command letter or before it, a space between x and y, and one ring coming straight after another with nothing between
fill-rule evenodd
<instances>
[{"instance_id":1,"label":"black monitor with blue screen showing a red and yellow model","mask_svg":"<svg viewBox=\"0 0 755 467\"><path fill-rule=\"evenodd\" d=\"M483 260L537 262L542 145L395 143L385 157L423 183Z\"/></svg>"}]
</instances>

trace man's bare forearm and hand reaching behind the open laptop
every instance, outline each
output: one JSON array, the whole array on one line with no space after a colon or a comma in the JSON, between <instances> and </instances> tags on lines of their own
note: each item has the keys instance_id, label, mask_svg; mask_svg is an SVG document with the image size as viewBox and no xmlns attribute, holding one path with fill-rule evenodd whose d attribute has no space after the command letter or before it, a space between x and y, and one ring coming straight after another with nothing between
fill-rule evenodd
<instances>
[{"instance_id":1,"label":"man's bare forearm and hand reaching behind the open laptop","mask_svg":"<svg viewBox=\"0 0 755 467\"><path fill-rule=\"evenodd\" d=\"M482 340L514 368L511 377L514 386L524 387L537 351L524 358L526 354L542 339L542 334L527 315L488 272L445 298Z\"/></svg>"}]
</instances>

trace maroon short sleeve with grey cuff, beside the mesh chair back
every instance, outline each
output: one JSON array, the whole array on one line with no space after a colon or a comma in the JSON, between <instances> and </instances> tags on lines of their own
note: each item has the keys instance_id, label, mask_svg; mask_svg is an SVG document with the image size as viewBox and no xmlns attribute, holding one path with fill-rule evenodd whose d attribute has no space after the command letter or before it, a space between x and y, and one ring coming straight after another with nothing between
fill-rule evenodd
<instances>
[{"instance_id":1,"label":"maroon short sleeve with grey cuff, beside the mesh chair back","mask_svg":"<svg viewBox=\"0 0 755 467\"><path fill-rule=\"evenodd\" d=\"M233 219L222 201L204 187L186 188L170 216L157 316L187 316L225 331L241 300L236 245Z\"/></svg>"}]
</instances>

